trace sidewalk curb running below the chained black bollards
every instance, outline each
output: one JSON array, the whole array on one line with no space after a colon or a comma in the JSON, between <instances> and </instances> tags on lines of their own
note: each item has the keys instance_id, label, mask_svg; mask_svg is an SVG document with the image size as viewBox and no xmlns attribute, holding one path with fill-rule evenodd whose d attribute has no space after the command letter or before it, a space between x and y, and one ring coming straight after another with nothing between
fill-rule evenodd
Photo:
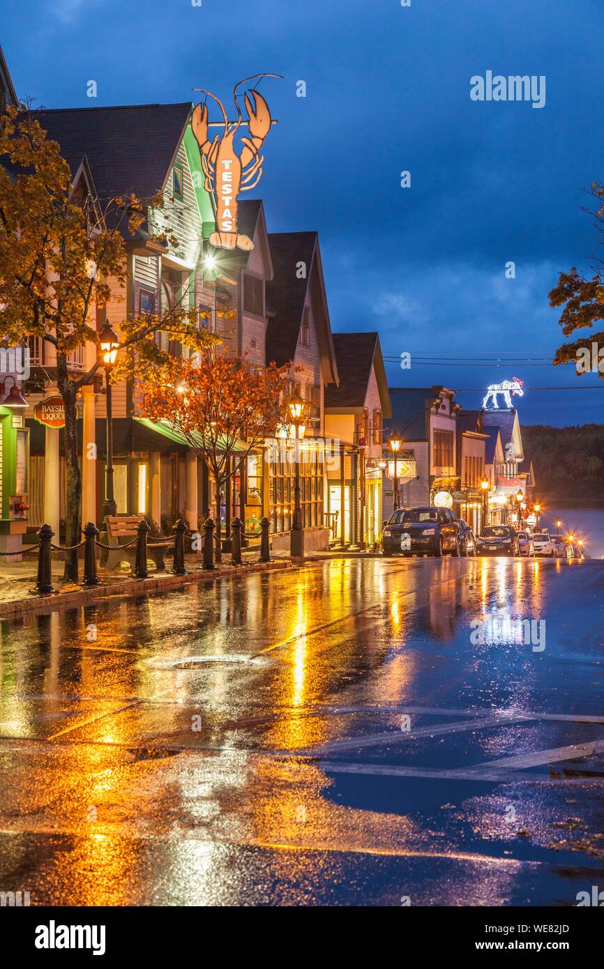
<instances>
[{"instance_id":1,"label":"sidewalk curb running below the chained black bollards","mask_svg":"<svg viewBox=\"0 0 604 969\"><path fill-rule=\"evenodd\" d=\"M196 582L213 583L221 578L244 578L252 572L278 572L291 569L292 562L276 559L271 562L257 562L253 565L227 566L216 568L212 572L188 572L185 576L151 576L149 578L125 578L121 582L111 585L93 585L91 588L73 589L69 592L59 592L36 599L19 599L15 602L0 605L0 619L8 619L19 615L30 615L40 612L69 609L73 606L86 605L104 599L128 599L134 596L152 595L165 589L172 590Z\"/></svg>"}]
</instances>

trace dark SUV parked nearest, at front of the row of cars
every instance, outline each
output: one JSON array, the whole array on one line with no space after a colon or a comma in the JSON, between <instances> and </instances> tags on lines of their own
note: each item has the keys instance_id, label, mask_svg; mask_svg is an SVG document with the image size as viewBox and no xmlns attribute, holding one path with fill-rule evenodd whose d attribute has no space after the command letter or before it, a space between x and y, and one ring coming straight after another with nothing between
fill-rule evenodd
<instances>
[{"instance_id":1,"label":"dark SUV parked nearest, at front of the row of cars","mask_svg":"<svg viewBox=\"0 0 604 969\"><path fill-rule=\"evenodd\" d=\"M384 523L383 555L461 554L461 525L448 508L399 508Z\"/></svg>"}]
</instances>

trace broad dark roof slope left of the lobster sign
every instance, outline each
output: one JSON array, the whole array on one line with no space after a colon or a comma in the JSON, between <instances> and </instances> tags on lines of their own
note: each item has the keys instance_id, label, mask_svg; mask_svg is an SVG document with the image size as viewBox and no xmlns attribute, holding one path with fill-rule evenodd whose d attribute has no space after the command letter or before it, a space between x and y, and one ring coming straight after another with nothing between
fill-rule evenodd
<instances>
[{"instance_id":1,"label":"broad dark roof slope left of the lobster sign","mask_svg":"<svg viewBox=\"0 0 604 969\"><path fill-rule=\"evenodd\" d=\"M36 110L72 174L85 155L99 199L134 192L148 199L164 186L191 115L191 103Z\"/></svg>"}]
</instances>

